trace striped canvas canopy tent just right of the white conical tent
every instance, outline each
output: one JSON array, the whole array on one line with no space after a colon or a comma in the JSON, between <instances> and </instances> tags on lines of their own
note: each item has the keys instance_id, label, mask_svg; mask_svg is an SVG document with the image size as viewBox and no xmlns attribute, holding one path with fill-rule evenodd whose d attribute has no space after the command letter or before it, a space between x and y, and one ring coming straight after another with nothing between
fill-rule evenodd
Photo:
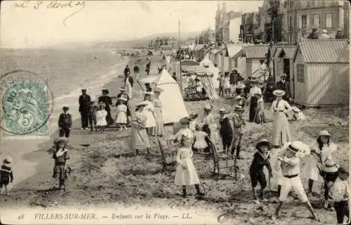
<instances>
[{"instance_id":1,"label":"striped canvas canopy tent just right of the white conical tent","mask_svg":"<svg viewBox=\"0 0 351 225\"><path fill-rule=\"evenodd\" d=\"M182 72L184 73L183 75L196 75L204 85L204 89L208 94L208 98L211 100L218 99L218 94L212 81L213 72L211 72L211 70L208 70L208 68L204 68L199 65L188 65L182 67Z\"/></svg>"}]
</instances>

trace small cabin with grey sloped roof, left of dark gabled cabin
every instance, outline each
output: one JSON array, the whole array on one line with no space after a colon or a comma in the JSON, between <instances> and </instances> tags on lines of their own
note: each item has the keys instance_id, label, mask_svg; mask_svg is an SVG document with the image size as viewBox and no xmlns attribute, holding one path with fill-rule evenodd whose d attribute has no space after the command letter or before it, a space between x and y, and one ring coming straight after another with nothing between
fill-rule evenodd
<instances>
[{"instance_id":1,"label":"small cabin with grey sloped roof, left of dark gabled cabin","mask_svg":"<svg viewBox=\"0 0 351 225\"><path fill-rule=\"evenodd\" d=\"M258 71L260 60L267 60L269 44L252 44L243 47L243 57L246 57L246 76L251 77Z\"/></svg>"}]
</instances>

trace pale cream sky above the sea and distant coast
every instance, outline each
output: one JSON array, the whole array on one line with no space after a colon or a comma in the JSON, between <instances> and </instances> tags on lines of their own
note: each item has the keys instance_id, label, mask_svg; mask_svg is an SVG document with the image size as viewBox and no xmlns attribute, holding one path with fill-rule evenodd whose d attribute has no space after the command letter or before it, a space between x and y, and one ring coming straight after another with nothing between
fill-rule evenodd
<instances>
[{"instance_id":1,"label":"pale cream sky above the sea and distant coast","mask_svg":"<svg viewBox=\"0 0 351 225\"><path fill-rule=\"evenodd\" d=\"M135 39L178 32L178 20L180 32L200 32L215 27L223 3L227 11L245 13L263 1L1 1L1 47Z\"/></svg>"}]
</instances>

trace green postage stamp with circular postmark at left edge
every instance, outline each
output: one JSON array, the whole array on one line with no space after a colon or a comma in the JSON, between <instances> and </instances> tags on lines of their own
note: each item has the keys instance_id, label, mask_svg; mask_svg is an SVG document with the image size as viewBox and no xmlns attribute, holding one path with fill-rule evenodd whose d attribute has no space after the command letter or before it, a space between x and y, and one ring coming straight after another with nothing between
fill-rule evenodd
<instances>
[{"instance_id":1,"label":"green postage stamp with circular postmark at left edge","mask_svg":"<svg viewBox=\"0 0 351 225\"><path fill-rule=\"evenodd\" d=\"M53 94L48 80L34 72L15 70L0 77L3 137L49 136Z\"/></svg>"}]
</instances>

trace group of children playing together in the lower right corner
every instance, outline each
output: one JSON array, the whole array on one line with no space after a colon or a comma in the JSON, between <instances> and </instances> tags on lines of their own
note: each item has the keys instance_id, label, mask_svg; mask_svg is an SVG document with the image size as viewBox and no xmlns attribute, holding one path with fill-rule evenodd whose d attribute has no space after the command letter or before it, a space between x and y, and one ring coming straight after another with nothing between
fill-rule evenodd
<instances>
[{"instance_id":1,"label":"group of children playing together in the lower right corner","mask_svg":"<svg viewBox=\"0 0 351 225\"><path fill-rule=\"evenodd\" d=\"M285 143L281 149L276 151L272 161L269 153L272 150L272 144L265 139L259 141L256 144L257 152L253 155L249 169L253 198L255 200L264 199L264 191L267 187L264 173L264 167L266 167L269 174L269 184L272 176L279 176L278 179L280 179L278 181L279 205L274 216L279 216L283 203L286 202L289 193L294 191L301 202L310 210L312 217L319 221L307 195L312 194L313 181L322 177L324 179L324 208L336 211L338 224L343 224L344 217L350 220L349 173L332 160L331 153L336 150L336 145L331 142L330 136L329 131L320 131L316 145L311 148L300 141ZM307 194L300 179L301 160L305 157L308 158L304 172L309 178ZM257 197L256 186L258 184L260 184L260 194ZM333 207L329 205L332 202ZM347 224L350 224L350 221Z\"/></svg>"}]
</instances>

